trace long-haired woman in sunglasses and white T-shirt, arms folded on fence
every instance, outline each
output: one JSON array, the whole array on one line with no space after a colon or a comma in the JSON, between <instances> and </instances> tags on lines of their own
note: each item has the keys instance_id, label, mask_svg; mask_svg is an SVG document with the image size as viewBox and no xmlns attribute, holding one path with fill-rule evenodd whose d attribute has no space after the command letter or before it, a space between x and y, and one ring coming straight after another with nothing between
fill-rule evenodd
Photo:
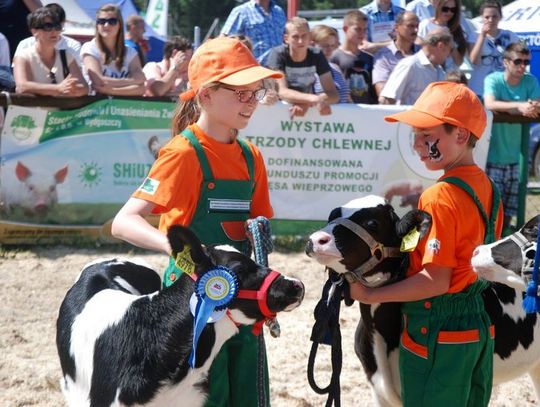
<instances>
[{"instance_id":1,"label":"long-haired woman in sunglasses and white T-shirt, arms folded on fence","mask_svg":"<svg viewBox=\"0 0 540 407\"><path fill-rule=\"evenodd\" d=\"M145 77L137 51L124 44L120 9L105 4L96 13L96 36L83 44L81 57L92 89L113 96L142 96Z\"/></svg>"}]
</instances>

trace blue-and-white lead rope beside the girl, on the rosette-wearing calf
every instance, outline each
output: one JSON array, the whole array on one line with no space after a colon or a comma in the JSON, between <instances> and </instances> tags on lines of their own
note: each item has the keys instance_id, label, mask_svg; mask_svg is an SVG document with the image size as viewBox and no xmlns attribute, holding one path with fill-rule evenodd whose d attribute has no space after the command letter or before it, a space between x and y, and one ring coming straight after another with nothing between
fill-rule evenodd
<instances>
[{"instance_id":1,"label":"blue-and-white lead rope beside the girl, on the rosette-wearing calf","mask_svg":"<svg viewBox=\"0 0 540 407\"><path fill-rule=\"evenodd\" d=\"M261 227L259 227L259 225ZM261 230L262 228L262 230ZM272 243L272 232L270 222L264 216L258 216L252 219L248 224L248 231L253 239L253 254L255 261L262 266L268 267L268 254L274 251ZM279 323L276 318L266 321L266 325L270 328L270 334L277 338L280 334ZM265 376L266 371L266 345L264 343L263 331L258 336L259 352L257 355L257 394L259 396L259 406L266 406L269 396L266 395Z\"/></svg>"}]
</instances>

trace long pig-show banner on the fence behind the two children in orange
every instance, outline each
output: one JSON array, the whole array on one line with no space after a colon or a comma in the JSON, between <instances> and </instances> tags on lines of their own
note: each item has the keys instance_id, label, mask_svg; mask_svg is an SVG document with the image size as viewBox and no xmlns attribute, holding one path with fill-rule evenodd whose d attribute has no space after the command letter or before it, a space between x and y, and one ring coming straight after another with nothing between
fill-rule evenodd
<instances>
[{"instance_id":1,"label":"long pig-show banner on the fence behind the two children in orange","mask_svg":"<svg viewBox=\"0 0 540 407\"><path fill-rule=\"evenodd\" d=\"M10 106L0 144L0 243L111 241L112 219L170 138L174 108L122 99L70 111ZM333 208L369 194L401 213L414 207L440 174L425 170L408 126L384 121L400 110L336 105L330 116L311 109L291 120L285 104L260 106L240 136L265 157L274 233L308 233ZM484 136L475 149L481 165L487 146Z\"/></svg>"}]
</instances>

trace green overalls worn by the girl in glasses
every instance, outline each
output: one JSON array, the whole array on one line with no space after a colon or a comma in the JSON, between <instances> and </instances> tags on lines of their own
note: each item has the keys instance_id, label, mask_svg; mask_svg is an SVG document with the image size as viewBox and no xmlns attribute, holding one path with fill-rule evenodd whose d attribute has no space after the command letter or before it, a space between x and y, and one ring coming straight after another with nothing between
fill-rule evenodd
<instances>
[{"instance_id":1,"label":"green overalls worn by the girl in glasses","mask_svg":"<svg viewBox=\"0 0 540 407\"><path fill-rule=\"evenodd\" d=\"M203 173L201 195L189 228L203 244L229 244L246 253L248 241L233 240L226 233L227 222L249 218L251 197L255 187L253 155L248 145L238 140L246 159L249 180L214 179L203 147L188 129L182 132L197 153ZM178 279L182 270L169 259L165 270L164 286ZM207 407L269 406L268 365L264 353L262 332L259 337L251 332L252 326L241 326L238 335L230 338L218 353L210 368L210 394ZM264 389L259 392L258 389ZM259 394L264 393L264 394Z\"/></svg>"}]
</instances>

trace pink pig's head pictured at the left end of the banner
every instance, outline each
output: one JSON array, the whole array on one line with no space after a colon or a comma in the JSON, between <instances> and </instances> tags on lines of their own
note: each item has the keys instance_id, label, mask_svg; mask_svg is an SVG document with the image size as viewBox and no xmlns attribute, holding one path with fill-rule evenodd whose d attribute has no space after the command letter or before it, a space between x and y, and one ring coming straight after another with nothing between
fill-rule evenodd
<instances>
[{"instance_id":1,"label":"pink pig's head pictured at the left end of the banner","mask_svg":"<svg viewBox=\"0 0 540 407\"><path fill-rule=\"evenodd\" d=\"M31 170L17 162L13 182L2 185L4 210L11 213L21 208L26 215L44 216L58 202L56 186L66 179L67 165L54 174L46 171ZM4 180L9 176L7 174Z\"/></svg>"}]
</instances>

